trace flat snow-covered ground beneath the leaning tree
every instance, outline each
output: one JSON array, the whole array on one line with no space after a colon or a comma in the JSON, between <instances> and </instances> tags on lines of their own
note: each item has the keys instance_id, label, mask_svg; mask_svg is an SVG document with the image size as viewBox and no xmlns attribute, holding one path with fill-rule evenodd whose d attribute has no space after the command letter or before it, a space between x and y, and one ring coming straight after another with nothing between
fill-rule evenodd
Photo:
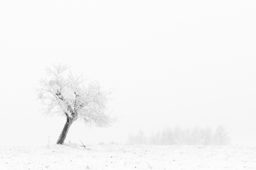
<instances>
[{"instance_id":1,"label":"flat snow-covered ground beneath the leaning tree","mask_svg":"<svg viewBox=\"0 0 256 170\"><path fill-rule=\"evenodd\" d=\"M0 169L256 169L256 148L77 145L0 147Z\"/></svg>"}]
</instances>

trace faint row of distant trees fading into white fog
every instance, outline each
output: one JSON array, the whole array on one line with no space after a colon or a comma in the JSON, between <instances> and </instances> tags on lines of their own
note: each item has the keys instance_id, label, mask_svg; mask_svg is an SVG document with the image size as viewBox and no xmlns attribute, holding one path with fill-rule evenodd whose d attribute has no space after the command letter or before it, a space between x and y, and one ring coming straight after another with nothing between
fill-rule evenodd
<instances>
[{"instance_id":1,"label":"faint row of distant trees fading into white fog","mask_svg":"<svg viewBox=\"0 0 256 170\"><path fill-rule=\"evenodd\" d=\"M152 132L146 136L140 130L138 134L129 135L129 144L137 145L202 145L202 146L221 146L229 145L230 138L224 126L220 125L213 131L211 128L165 128L162 131Z\"/></svg>"}]
</instances>

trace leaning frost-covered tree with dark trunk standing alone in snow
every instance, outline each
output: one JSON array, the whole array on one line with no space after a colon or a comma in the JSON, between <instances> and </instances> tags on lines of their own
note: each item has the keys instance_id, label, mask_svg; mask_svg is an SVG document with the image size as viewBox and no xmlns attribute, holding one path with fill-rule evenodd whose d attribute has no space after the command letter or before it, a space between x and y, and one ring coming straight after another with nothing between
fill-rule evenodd
<instances>
[{"instance_id":1,"label":"leaning frost-covered tree with dark trunk standing alone in snow","mask_svg":"<svg viewBox=\"0 0 256 170\"><path fill-rule=\"evenodd\" d=\"M53 69L47 67L47 77L39 81L41 88L38 89L45 115L58 114L67 118L57 141L60 145L65 141L71 124L77 120L87 126L100 127L115 121L105 113L110 92L101 90L95 81L86 86L82 75L76 77L67 70L68 67L63 65L54 65Z\"/></svg>"}]
</instances>

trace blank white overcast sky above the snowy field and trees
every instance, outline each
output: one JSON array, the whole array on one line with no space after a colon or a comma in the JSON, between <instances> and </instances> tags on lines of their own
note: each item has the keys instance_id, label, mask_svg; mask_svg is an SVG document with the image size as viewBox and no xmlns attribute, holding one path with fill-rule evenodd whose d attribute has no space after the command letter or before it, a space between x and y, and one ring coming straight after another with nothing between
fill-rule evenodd
<instances>
[{"instance_id":1,"label":"blank white overcast sky above the snowy field and trees","mask_svg":"<svg viewBox=\"0 0 256 170\"><path fill-rule=\"evenodd\" d=\"M123 141L164 126L226 126L256 143L256 1L1 1L0 146L56 142L64 117L36 100L45 66L116 88L107 129L67 140Z\"/></svg>"}]
</instances>

